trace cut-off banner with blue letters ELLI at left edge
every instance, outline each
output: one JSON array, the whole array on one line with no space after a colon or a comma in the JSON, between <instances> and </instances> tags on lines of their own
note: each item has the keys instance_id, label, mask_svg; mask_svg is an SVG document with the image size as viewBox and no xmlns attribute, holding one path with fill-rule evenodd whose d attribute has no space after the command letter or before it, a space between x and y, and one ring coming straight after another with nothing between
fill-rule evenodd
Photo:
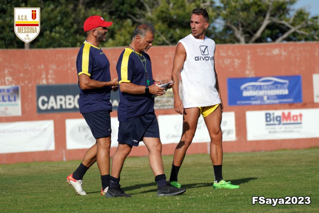
<instances>
[{"instance_id":1,"label":"cut-off banner with blue letters ELLI at left edge","mask_svg":"<svg viewBox=\"0 0 319 213\"><path fill-rule=\"evenodd\" d=\"M20 86L0 86L0 116L21 116Z\"/></svg>"}]
</instances>

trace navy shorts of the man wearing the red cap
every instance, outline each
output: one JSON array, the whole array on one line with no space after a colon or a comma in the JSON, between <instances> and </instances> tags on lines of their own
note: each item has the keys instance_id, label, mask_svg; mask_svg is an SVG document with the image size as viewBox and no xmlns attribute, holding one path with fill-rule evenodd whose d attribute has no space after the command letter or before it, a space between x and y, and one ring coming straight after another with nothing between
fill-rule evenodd
<instances>
[{"instance_id":1,"label":"navy shorts of the man wearing the red cap","mask_svg":"<svg viewBox=\"0 0 319 213\"><path fill-rule=\"evenodd\" d=\"M111 135L110 112L111 110L98 110L82 114L95 139L105 138Z\"/></svg>"}]
</instances>

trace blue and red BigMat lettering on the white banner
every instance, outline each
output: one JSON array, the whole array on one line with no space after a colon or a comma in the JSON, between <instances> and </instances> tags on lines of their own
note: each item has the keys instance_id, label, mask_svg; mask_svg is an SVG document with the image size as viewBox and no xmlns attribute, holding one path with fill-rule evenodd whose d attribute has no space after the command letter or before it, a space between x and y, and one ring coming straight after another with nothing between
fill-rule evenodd
<instances>
[{"instance_id":1,"label":"blue and red BigMat lettering on the white banner","mask_svg":"<svg viewBox=\"0 0 319 213\"><path fill-rule=\"evenodd\" d=\"M293 114L291 112L265 113L266 126L274 125L300 125L302 124L302 113Z\"/></svg>"}]
</instances>

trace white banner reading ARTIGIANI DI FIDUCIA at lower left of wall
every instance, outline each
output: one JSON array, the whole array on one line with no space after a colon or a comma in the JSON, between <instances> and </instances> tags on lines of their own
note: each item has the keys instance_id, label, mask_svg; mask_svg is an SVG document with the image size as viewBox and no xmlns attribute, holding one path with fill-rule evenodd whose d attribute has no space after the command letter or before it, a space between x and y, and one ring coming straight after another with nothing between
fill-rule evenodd
<instances>
[{"instance_id":1,"label":"white banner reading ARTIGIANI DI FIDUCIA at lower left of wall","mask_svg":"<svg viewBox=\"0 0 319 213\"><path fill-rule=\"evenodd\" d=\"M53 120L0 123L0 153L54 149Z\"/></svg>"}]
</instances>

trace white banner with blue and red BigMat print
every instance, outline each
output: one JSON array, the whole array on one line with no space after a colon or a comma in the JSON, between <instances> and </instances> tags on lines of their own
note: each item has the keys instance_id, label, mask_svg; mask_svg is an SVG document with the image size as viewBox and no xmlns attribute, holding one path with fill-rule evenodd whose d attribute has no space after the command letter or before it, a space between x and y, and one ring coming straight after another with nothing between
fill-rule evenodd
<instances>
[{"instance_id":1,"label":"white banner with blue and red BigMat print","mask_svg":"<svg viewBox=\"0 0 319 213\"><path fill-rule=\"evenodd\" d=\"M246 111L247 140L319 138L319 109Z\"/></svg>"}]
</instances>

